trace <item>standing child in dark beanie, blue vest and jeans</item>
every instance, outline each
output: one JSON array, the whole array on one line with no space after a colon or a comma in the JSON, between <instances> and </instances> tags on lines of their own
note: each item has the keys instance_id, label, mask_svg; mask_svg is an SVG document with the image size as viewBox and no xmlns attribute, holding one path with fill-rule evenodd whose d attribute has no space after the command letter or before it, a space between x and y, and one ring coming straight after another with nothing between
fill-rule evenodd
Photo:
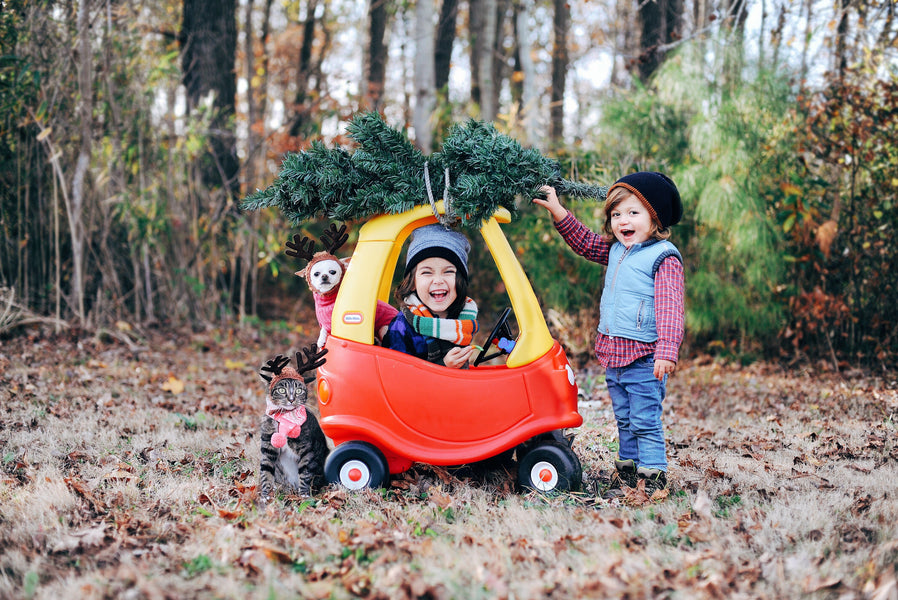
<instances>
[{"instance_id":1,"label":"standing child in dark beanie, blue vest and jeans","mask_svg":"<svg viewBox=\"0 0 898 600\"><path fill-rule=\"evenodd\" d=\"M676 185L655 172L618 179L605 201L604 235L578 221L544 186L555 228L580 256L607 266L599 305L596 357L605 367L619 438L605 498L645 480L646 493L667 488L661 403L683 340L683 259L667 241L683 206Z\"/></svg>"}]
</instances>

